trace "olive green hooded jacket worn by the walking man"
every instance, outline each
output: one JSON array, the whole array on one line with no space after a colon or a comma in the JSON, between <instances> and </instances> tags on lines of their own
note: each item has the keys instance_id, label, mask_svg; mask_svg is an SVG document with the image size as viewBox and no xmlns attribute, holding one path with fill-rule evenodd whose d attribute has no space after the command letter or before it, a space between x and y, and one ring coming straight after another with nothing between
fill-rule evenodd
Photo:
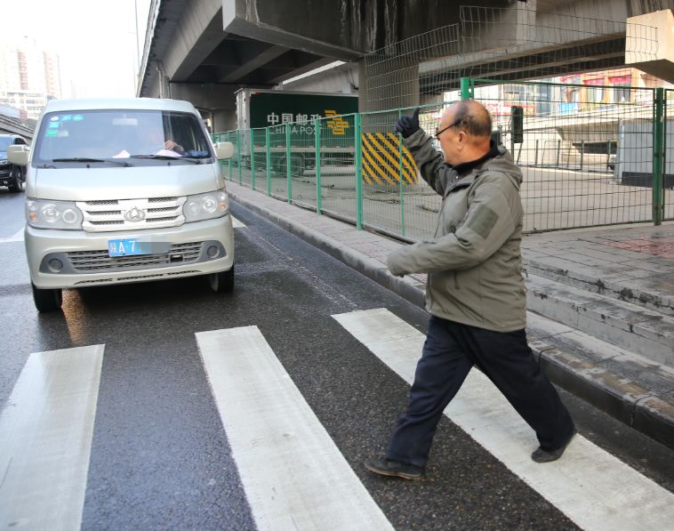
<instances>
[{"instance_id":1,"label":"olive green hooded jacket worn by the walking man","mask_svg":"<svg viewBox=\"0 0 674 531\"><path fill-rule=\"evenodd\" d=\"M502 146L465 173L459 166L461 174L421 130L405 146L443 199L434 237L390 253L390 272L428 273L426 309L439 318L497 332L524 328L522 172Z\"/></svg>"}]
</instances>

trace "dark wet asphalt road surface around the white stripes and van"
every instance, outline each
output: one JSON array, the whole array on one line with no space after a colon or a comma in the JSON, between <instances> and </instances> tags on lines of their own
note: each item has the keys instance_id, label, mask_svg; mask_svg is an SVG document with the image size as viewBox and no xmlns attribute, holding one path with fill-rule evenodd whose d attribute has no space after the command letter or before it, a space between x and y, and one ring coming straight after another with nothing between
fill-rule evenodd
<instances>
[{"instance_id":1,"label":"dark wet asphalt road surface around the white stripes and van","mask_svg":"<svg viewBox=\"0 0 674 531\"><path fill-rule=\"evenodd\" d=\"M383 308L424 333L423 310L233 205L245 223L236 229L233 294L213 294L201 278L67 290L62 312L40 315L17 239L22 201L0 189L0 406L8 406L31 353L105 345L82 529L256 528L195 339L242 326L259 328L393 527L576 528L447 418L429 479L387 480L364 470L363 460L383 451L409 385L332 316ZM584 437L674 490L672 452L562 396Z\"/></svg>"}]
</instances>

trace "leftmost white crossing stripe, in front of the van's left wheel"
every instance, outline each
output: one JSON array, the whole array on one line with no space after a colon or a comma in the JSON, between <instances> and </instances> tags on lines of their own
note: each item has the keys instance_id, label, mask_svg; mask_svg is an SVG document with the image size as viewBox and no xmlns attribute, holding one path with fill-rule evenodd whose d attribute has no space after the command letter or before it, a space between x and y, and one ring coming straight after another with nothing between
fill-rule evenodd
<instances>
[{"instance_id":1,"label":"leftmost white crossing stripe, in front of the van's left wheel","mask_svg":"<svg viewBox=\"0 0 674 531\"><path fill-rule=\"evenodd\" d=\"M28 357L0 417L0 529L79 529L103 350Z\"/></svg>"}]
</instances>

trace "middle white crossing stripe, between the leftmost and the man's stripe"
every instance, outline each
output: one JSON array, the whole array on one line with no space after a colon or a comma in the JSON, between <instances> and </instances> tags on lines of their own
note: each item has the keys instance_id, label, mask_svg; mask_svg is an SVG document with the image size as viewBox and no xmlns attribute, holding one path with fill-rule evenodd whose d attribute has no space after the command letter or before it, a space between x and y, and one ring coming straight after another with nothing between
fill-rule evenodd
<instances>
[{"instance_id":1,"label":"middle white crossing stripe, between the leftmost and the man's stripe","mask_svg":"<svg viewBox=\"0 0 674 531\"><path fill-rule=\"evenodd\" d=\"M196 336L260 531L392 529L257 326Z\"/></svg>"}]
</instances>

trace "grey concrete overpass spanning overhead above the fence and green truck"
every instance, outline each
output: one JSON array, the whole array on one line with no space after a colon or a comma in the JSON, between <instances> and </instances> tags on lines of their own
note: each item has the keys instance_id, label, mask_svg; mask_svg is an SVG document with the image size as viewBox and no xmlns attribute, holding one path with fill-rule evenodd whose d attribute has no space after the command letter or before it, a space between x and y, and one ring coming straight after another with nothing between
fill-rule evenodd
<instances>
[{"instance_id":1,"label":"grey concrete overpass spanning overhead above the fence and green truck","mask_svg":"<svg viewBox=\"0 0 674 531\"><path fill-rule=\"evenodd\" d=\"M341 60L347 65L331 73L332 81L324 85L327 92L358 92L361 110L375 109L368 104L373 100L382 101L384 107L413 105L419 102L419 93L441 94L455 88L464 75L530 79L542 73L623 66L626 20L674 8L674 0L469 4L474 7L443 0L153 0L138 94L192 101L213 117L214 129L222 131L235 126L238 88L274 87ZM467 12L477 16L467 21ZM479 14L483 12L488 16ZM658 63L662 70L662 64L671 61L657 57L658 23L648 23L654 25L653 31L641 28L630 37L638 52L630 62L646 70ZM422 52L424 35L452 25L463 33L434 46L433 55ZM666 29L665 25L661 31ZM419 40L416 50L398 53L396 43L413 45L414 39ZM381 88L368 88L368 76L377 72L368 68L367 58L372 59L375 51L385 55L391 50L398 55L383 61L388 71L381 75L396 76L399 83L400 73L406 72L412 90L386 101L373 97L377 95L373 91ZM412 61L413 67L401 68L405 61ZM309 90L310 83L290 86Z\"/></svg>"}]
</instances>

